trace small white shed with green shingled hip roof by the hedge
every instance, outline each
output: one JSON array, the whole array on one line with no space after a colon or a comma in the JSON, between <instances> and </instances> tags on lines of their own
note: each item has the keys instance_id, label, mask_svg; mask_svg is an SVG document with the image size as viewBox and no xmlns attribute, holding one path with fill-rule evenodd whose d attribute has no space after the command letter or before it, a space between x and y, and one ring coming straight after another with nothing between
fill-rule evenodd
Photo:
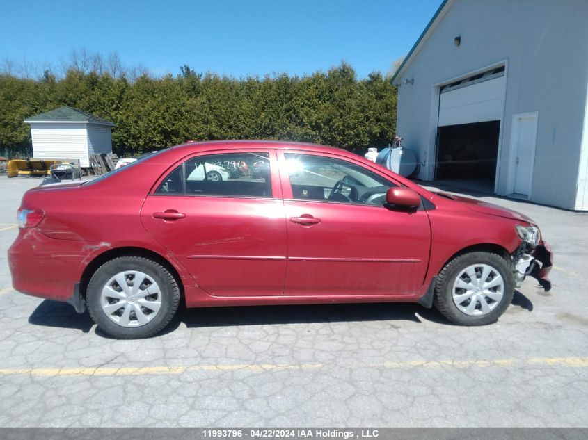
<instances>
[{"instance_id":1,"label":"small white shed with green shingled hip roof by the hedge","mask_svg":"<svg viewBox=\"0 0 588 440\"><path fill-rule=\"evenodd\" d=\"M63 106L24 120L31 124L33 156L40 159L79 159L90 166L90 154L112 153L112 122Z\"/></svg>"}]
</instances>

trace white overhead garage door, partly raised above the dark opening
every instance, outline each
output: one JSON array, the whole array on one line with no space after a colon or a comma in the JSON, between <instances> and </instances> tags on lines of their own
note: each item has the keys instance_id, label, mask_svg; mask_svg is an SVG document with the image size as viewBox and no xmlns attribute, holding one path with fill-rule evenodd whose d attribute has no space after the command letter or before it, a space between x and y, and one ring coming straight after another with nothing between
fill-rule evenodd
<instances>
[{"instance_id":1,"label":"white overhead garage door, partly raised above the dark opening","mask_svg":"<svg viewBox=\"0 0 588 440\"><path fill-rule=\"evenodd\" d=\"M503 74L504 75L504 74ZM504 76L446 86L439 96L439 127L502 119ZM474 80L475 81L475 80ZM473 82L473 81L471 81Z\"/></svg>"}]
</instances>

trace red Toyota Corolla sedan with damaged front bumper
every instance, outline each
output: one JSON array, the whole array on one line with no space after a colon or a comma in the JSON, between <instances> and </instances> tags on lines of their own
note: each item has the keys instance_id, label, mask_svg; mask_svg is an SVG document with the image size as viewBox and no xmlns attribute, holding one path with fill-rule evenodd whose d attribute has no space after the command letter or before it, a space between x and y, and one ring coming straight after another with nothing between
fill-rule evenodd
<instances>
[{"instance_id":1,"label":"red Toyota Corolla sedan with damaged front bumper","mask_svg":"<svg viewBox=\"0 0 588 440\"><path fill-rule=\"evenodd\" d=\"M525 275L550 288L530 218L319 145L179 145L33 188L18 220L15 289L87 307L120 338L159 332L180 302L419 302L484 325Z\"/></svg>"}]
</instances>

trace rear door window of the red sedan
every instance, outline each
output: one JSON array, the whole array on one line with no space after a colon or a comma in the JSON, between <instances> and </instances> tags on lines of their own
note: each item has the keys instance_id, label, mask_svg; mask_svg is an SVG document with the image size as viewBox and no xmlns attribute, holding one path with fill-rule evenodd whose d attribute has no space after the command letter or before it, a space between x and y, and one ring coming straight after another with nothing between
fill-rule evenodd
<instances>
[{"instance_id":1,"label":"rear door window of the red sedan","mask_svg":"<svg viewBox=\"0 0 588 440\"><path fill-rule=\"evenodd\" d=\"M211 154L190 158L170 172L155 193L272 197L269 154Z\"/></svg>"}]
</instances>

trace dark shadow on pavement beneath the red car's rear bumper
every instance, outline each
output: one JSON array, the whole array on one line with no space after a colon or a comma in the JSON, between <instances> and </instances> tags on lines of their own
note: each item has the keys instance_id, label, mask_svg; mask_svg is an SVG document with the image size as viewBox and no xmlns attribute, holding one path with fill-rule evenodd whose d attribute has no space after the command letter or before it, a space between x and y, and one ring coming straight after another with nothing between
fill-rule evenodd
<instances>
[{"instance_id":1,"label":"dark shadow on pavement beneath the red car's rear bumper","mask_svg":"<svg viewBox=\"0 0 588 440\"><path fill-rule=\"evenodd\" d=\"M29 324L77 329L88 333L94 325L88 313L80 315L65 302L44 300L29 316Z\"/></svg>"}]
</instances>

